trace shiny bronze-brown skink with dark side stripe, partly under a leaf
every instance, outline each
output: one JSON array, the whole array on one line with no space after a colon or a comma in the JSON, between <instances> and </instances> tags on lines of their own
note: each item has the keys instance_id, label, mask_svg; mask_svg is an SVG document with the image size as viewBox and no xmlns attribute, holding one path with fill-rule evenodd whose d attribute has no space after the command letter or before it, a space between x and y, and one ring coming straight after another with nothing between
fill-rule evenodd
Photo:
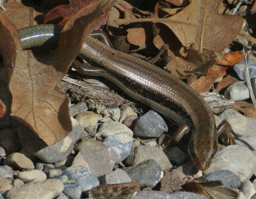
<instances>
[{"instance_id":1,"label":"shiny bronze-brown skink with dark side stripe, partly under a leaf","mask_svg":"<svg viewBox=\"0 0 256 199\"><path fill-rule=\"evenodd\" d=\"M22 48L42 45L56 38L62 29L55 25L38 25L20 29ZM218 135L224 132L226 144L236 144L240 136L231 132L228 122L216 128L213 113L204 99L170 72L142 59L115 50L92 36L87 36L80 57L94 66L76 66L85 75L103 76L130 97L146 104L172 120L179 128L169 142L176 142L191 132L188 154L198 170L206 170L218 150Z\"/></svg>"}]
</instances>

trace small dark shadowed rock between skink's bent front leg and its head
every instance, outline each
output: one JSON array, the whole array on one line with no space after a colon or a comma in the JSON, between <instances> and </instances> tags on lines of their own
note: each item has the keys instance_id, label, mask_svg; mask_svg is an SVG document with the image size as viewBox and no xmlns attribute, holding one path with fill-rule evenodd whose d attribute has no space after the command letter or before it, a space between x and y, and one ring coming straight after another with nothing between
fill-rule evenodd
<instances>
[{"instance_id":1,"label":"small dark shadowed rock between skink's bent front leg and its head","mask_svg":"<svg viewBox=\"0 0 256 199\"><path fill-rule=\"evenodd\" d=\"M189 155L180 150L177 146L171 148L166 154L170 162L174 163L177 166L183 165L190 160Z\"/></svg>"}]
</instances>

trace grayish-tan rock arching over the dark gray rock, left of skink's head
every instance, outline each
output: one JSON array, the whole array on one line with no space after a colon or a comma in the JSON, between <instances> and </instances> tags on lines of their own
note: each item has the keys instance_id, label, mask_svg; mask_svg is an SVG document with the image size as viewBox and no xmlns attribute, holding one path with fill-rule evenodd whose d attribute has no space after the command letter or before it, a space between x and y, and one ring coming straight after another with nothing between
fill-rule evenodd
<instances>
[{"instance_id":1,"label":"grayish-tan rock arching over the dark gray rock, left of skink's head","mask_svg":"<svg viewBox=\"0 0 256 199\"><path fill-rule=\"evenodd\" d=\"M165 153L157 147L150 146L132 147L131 153L126 160L126 163L129 166L134 166L149 159L155 160L161 167L162 171L172 168L172 165Z\"/></svg>"}]
</instances>

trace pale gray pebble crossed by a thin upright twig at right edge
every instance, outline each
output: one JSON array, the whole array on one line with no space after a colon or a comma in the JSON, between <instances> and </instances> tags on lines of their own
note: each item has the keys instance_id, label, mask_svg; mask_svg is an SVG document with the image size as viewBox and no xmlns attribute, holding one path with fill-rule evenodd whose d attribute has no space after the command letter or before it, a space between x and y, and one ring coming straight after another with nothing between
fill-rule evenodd
<instances>
[{"instance_id":1,"label":"pale gray pebble crossed by a thin upright twig at right edge","mask_svg":"<svg viewBox=\"0 0 256 199\"><path fill-rule=\"evenodd\" d=\"M233 67L233 70L236 72L236 74L239 76L239 78L243 81L246 80L245 74L244 74L244 60L239 61L236 63ZM248 61L248 68L249 68L249 75L250 79L256 77L256 63L254 61L249 60Z\"/></svg>"}]
</instances>

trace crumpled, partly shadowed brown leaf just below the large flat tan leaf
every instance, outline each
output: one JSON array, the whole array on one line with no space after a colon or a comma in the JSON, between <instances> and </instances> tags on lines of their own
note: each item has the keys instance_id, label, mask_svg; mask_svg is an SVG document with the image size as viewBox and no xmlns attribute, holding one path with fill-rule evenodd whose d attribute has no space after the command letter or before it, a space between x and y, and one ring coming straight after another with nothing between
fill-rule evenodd
<instances>
[{"instance_id":1,"label":"crumpled, partly shadowed brown leaf just below the large flat tan leaf","mask_svg":"<svg viewBox=\"0 0 256 199\"><path fill-rule=\"evenodd\" d=\"M204 49L199 52L194 48L182 47L175 35L164 25L153 25L153 43L160 49L165 43L169 43L169 49L163 54L166 68L172 75L185 78L193 74L202 76L215 63L216 56L212 50ZM177 52L178 50L178 52Z\"/></svg>"}]
</instances>

